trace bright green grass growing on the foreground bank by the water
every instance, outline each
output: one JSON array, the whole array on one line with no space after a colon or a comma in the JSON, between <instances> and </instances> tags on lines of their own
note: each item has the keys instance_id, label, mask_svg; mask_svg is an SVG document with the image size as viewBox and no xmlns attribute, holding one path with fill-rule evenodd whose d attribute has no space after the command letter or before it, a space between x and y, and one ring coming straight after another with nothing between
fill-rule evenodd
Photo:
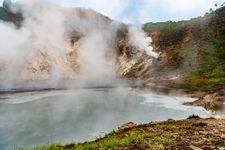
<instances>
[{"instance_id":1,"label":"bright green grass growing on the foreground bank by the water","mask_svg":"<svg viewBox=\"0 0 225 150\"><path fill-rule=\"evenodd\" d=\"M18 150L95 150L129 147L136 144L140 147L145 147L147 144L151 149L165 149L178 134L177 128L170 124L157 124L151 128L154 129L153 132L146 131L144 128L135 128L122 133L113 131L104 138L92 142L63 146L54 144L31 148L18 148Z\"/></svg>"}]
</instances>

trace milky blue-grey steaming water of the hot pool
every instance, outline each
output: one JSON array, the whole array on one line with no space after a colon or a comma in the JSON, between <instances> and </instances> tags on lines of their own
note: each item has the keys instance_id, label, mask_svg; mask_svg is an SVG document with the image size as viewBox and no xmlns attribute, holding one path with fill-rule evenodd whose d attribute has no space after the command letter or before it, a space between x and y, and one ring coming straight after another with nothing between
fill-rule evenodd
<instances>
[{"instance_id":1,"label":"milky blue-grey steaming water of the hot pool","mask_svg":"<svg viewBox=\"0 0 225 150\"><path fill-rule=\"evenodd\" d=\"M127 123L210 115L182 106L190 98L135 94L125 88L0 95L0 149L95 139Z\"/></svg>"}]
</instances>

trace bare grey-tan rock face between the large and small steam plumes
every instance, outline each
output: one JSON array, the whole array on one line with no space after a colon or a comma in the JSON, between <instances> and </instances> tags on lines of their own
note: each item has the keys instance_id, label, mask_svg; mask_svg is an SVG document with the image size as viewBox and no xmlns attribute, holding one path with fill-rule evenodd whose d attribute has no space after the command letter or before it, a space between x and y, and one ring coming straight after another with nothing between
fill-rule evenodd
<instances>
[{"instance_id":1,"label":"bare grey-tan rock face between the large and small steam plumes","mask_svg":"<svg viewBox=\"0 0 225 150\"><path fill-rule=\"evenodd\" d=\"M127 27L117 33L117 74L133 80L147 80L151 73L155 58L144 50L129 45Z\"/></svg>"}]
</instances>

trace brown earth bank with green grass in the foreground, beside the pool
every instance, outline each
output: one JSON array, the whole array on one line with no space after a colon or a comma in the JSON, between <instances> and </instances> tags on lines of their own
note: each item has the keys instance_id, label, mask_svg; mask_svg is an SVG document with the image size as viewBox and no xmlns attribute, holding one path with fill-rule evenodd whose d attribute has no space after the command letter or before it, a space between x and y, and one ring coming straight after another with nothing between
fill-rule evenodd
<instances>
[{"instance_id":1,"label":"brown earth bank with green grass in the foreground, beside the pool","mask_svg":"<svg viewBox=\"0 0 225 150\"><path fill-rule=\"evenodd\" d=\"M135 125L128 123L93 142L55 145L61 149L93 150L221 150L225 148L225 120L201 119ZM53 148L53 147L52 147Z\"/></svg>"}]
</instances>

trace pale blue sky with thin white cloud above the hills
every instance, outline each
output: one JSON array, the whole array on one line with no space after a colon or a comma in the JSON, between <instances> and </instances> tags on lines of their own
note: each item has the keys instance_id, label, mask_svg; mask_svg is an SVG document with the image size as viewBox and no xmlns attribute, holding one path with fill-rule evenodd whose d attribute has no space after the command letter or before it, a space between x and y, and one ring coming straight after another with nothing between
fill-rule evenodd
<instances>
[{"instance_id":1,"label":"pale blue sky with thin white cloud above the hills","mask_svg":"<svg viewBox=\"0 0 225 150\"><path fill-rule=\"evenodd\" d=\"M0 0L2 3L3 0ZM43 0L44 1L44 0ZM225 0L49 0L63 7L94 9L126 23L179 21L203 16Z\"/></svg>"}]
</instances>

